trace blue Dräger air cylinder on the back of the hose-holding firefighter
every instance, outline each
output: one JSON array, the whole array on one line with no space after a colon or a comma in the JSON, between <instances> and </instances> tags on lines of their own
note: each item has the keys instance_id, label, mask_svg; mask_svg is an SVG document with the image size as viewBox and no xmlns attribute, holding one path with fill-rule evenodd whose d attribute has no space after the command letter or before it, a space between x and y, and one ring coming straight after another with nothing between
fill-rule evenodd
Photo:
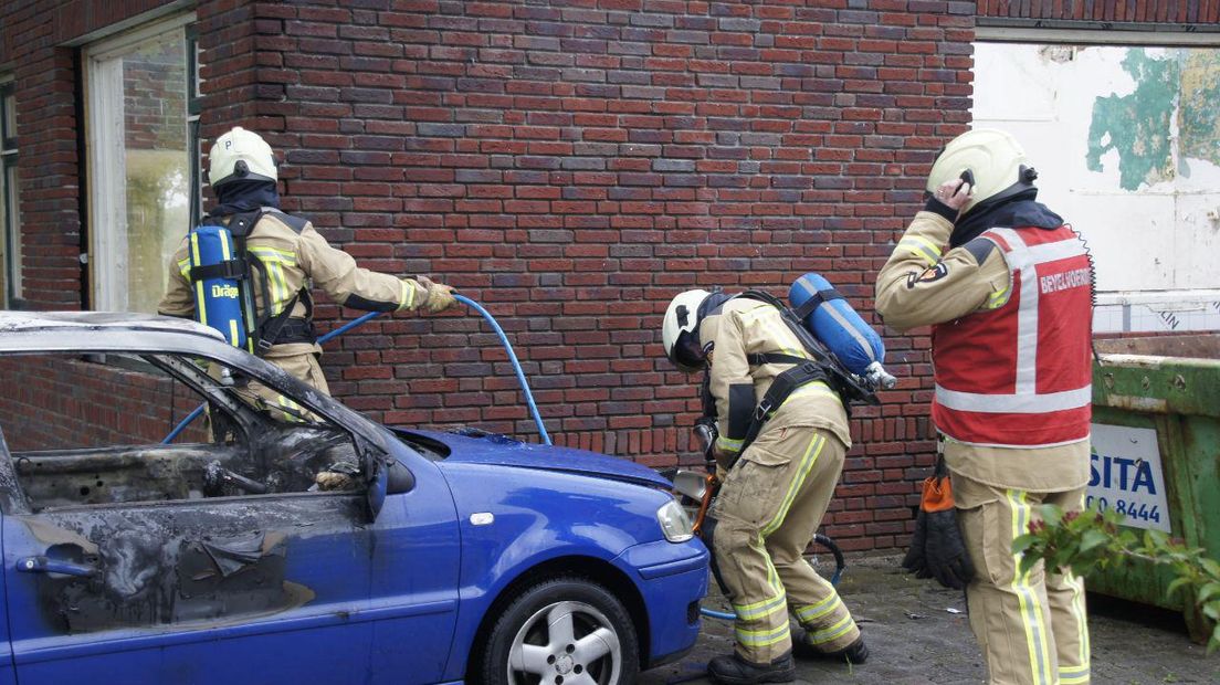
<instances>
[{"instance_id":1,"label":"blue Dr\u00e4ger air cylinder on the back of the hose-holding firefighter","mask_svg":"<svg viewBox=\"0 0 1220 685\"><path fill-rule=\"evenodd\" d=\"M192 288L195 294L195 319L220 330L234 347L246 349L242 316L242 286L237 278L223 275L195 278L233 260L233 235L223 225L200 225L190 232Z\"/></svg>"}]
</instances>

